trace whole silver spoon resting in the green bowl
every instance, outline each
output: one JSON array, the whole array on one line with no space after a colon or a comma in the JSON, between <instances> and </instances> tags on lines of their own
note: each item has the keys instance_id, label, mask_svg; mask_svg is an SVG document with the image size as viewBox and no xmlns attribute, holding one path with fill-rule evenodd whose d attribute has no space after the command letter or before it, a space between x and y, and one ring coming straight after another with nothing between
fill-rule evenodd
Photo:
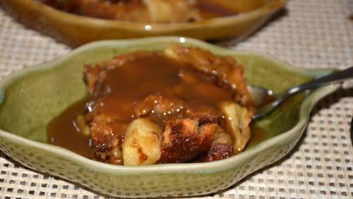
<instances>
[{"instance_id":1,"label":"whole silver spoon resting in the green bowl","mask_svg":"<svg viewBox=\"0 0 353 199\"><path fill-rule=\"evenodd\" d=\"M271 90L267 90L265 88L261 88L258 85L249 85L248 89L251 95L251 100L258 108L256 114L253 115L253 119L261 118L267 114L270 114L273 110L275 110L282 102L287 100L287 98L291 95L294 95L297 92L302 90L308 90L312 88L317 88L321 85L327 85L332 83L341 83L345 80L353 78L353 66L346 68L345 70L338 71L336 73L331 73L328 76L323 76L321 78L317 78L315 80L311 80L307 83L303 83L301 85L294 86L289 90L285 90L278 95L274 95ZM273 101L268 104L263 104L265 97L270 96L273 97Z\"/></svg>"}]
</instances>

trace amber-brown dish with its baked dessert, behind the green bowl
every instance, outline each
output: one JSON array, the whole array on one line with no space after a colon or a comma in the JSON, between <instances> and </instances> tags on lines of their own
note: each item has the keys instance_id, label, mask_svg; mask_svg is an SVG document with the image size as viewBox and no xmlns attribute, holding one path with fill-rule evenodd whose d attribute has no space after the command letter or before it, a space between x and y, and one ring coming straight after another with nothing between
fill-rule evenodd
<instances>
[{"instance_id":1,"label":"amber-brown dish with its baked dessert, behind the green bowl","mask_svg":"<svg viewBox=\"0 0 353 199\"><path fill-rule=\"evenodd\" d=\"M97 40L182 36L241 40L287 0L12 0L6 11L73 47ZM74 30L74 31L73 31Z\"/></svg>"}]
</instances>

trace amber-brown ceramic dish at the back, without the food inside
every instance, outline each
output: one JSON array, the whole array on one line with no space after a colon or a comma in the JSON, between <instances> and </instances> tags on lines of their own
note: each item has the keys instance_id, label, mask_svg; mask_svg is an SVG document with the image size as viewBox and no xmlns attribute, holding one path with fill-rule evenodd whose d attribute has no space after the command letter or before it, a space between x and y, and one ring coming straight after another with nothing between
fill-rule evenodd
<instances>
[{"instance_id":1,"label":"amber-brown ceramic dish at the back, without the food inside","mask_svg":"<svg viewBox=\"0 0 353 199\"><path fill-rule=\"evenodd\" d=\"M77 16L56 10L35 0L0 1L1 4L30 28L77 46L96 40L127 39L150 36L183 36L201 40L224 37L241 38L265 23L272 14L283 8L287 0L222 0L237 16L202 20L196 23L133 23Z\"/></svg>"}]
</instances>

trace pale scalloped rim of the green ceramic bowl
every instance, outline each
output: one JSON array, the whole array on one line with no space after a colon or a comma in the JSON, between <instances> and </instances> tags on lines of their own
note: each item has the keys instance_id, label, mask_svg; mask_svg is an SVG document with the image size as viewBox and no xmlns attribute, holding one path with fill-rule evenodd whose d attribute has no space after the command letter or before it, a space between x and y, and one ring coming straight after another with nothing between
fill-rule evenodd
<instances>
[{"instance_id":1,"label":"pale scalloped rim of the green ceramic bowl","mask_svg":"<svg viewBox=\"0 0 353 199\"><path fill-rule=\"evenodd\" d=\"M191 38L186 38L186 37L150 37L150 38L142 38L142 39L132 39L132 40L104 40L104 41L99 41L99 42L91 42L89 44L84 44L81 47L78 47L77 49L73 49L73 51L68 52L68 54L65 54L64 56L59 56L58 58L52 60L52 61L47 61L42 64L35 64L34 66L28 67L28 68L23 68L20 71L17 71L16 73L12 73L10 76L7 76L0 82L0 103L3 100L4 97L4 90L8 85L13 83L13 81L18 80L19 78L25 76L28 73L35 72L35 71L42 71L42 70L48 70L51 68L58 67L59 64L62 61L66 61L70 59L72 56L75 56L76 54L80 54L85 52L86 50L90 49L95 49L99 47L107 47L107 45L112 45L116 46L117 44L133 44L133 43L143 43L143 44L148 44L148 42L155 42L156 40L158 41L163 41L163 42L179 42L180 39L183 38L186 43L193 44L199 47L206 47L206 48L212 48L213 50L220 50L222 52L225 52L226 54L232 54L236 52L237 54L253 54L257 56L263 56L265 59L270 59L271 61L280 63L281 66L288 68L290 70L294 71L314 71L314 70L309 70L305 68L294 68L293 66L275 59L273 56L269 56L268 54L263 54L260 52L250 52L250 51L237 51L234 49L225 49L222 47L217 47L212 44L208 44L205 42L202 42L200 40L195 40ZM47 64L50 64L51 66L46 66ZM30 145L32 147L37 147L41 150L46 150L48 152L52 152L56 155L59 156L64 156L68 159L72 159L75 162L78 162L80 164L85 164L88 165L90 164L90 167L92 169L98 169L98 170L104 170L105 172L112 172L114 174L117 174L120 172L121 175L128 175L128 174L133 174L133 173L146 173L146 172L170 172L173 171L175 172L193 172L193 173L213 173L215 171L223 171L227 170L229 168L232 168L232 165L236 164L237 162L241 161L242 159L246 159L249 157L249 155L253 155L256 153L260 153L263 151L266 147L269 147L270 145L273 145L275 143L280 142L281 140L285 140L287 137L291 137L294 134L299 133L299 130L301 128L304 128L307 123L309 122L309 114L311 112L311 109L315 106L315 104L321 100L325 95L330 94L331 92L334 92L340 88L340 84L333 84L333 85L328 85L323 88L318 88L315 92L312 92L309 94L309 97L306 97L304 101L301 103L301 107L299 109L299 121L298 123L291 128L289 131L283 132L280 135L275 135L273 138L268 138L267 140L262 141L261 143L258 143L257 145L245 150L244 152L239 153L238 155L234 155L233 157L229 157L227 159L222 159L218 160L215 162L202 162L202 163L178 163L178 164L153 164L153 165L147 165L147 166L139 166L139 167L129 167L129 166L120 166L120 165L113 165L113 164L107 164L107 163L102 163L102 162L97 162L95 160L89 159L87 157L83 157L81 155L76 154L75 152L72 152L71 150L67 150L64 147L58 147L55 145L50 145L47 143L40 143L37 141L29 140L27 138L20 137L19 135L14 135L13 133L8 133L6 131L3 131L0 129L0 136L4 138L8 138L9 140L14 140L16 142L24 143L26 145ZM311 99L311 100L310 100Z\"/></svg>"}]
</instances>

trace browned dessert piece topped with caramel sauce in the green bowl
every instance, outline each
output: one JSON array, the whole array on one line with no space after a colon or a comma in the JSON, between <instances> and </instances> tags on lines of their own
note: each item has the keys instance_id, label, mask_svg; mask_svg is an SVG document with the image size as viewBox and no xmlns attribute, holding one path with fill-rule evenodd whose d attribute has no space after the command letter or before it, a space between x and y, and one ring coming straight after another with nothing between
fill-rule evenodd
<instances>
[{"instance_id":1,"label":"browned dessert piece topped with caramel sauce in the green bowl","mask_svg":"<svg viewBox=\"0 0 353 199\"><path fill-rule=\"evenodd\" d=\"M90 97L74 106L85 111L54 119L48 140L61 145L58 135L80 133L91 139L90 157L110 164L231 157L244 150L251 135L254 107L243 73L229 56L178 45L88 64ZM76 132L62 128L70 119Z\"/></svg>"}]
</instances>

